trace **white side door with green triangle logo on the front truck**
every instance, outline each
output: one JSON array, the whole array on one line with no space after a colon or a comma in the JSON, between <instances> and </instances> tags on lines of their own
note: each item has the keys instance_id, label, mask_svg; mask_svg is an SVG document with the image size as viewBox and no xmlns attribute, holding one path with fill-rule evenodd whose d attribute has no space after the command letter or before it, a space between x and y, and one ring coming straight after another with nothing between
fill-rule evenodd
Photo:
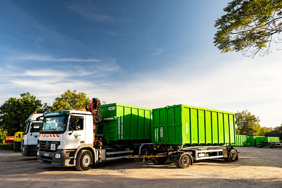
<instances>
[{"instance_id":1,"label":"white side door with green triangle logo on the front truck","mask_svg":"<svg viewBox=\"0 0 282 188\"><path fill-rule=\"evenodd\" d=\"M65 137L67 149L77 149L80 145L85 144L85 125L85 115L70 116Z\"/></svg>"}]
</instances>

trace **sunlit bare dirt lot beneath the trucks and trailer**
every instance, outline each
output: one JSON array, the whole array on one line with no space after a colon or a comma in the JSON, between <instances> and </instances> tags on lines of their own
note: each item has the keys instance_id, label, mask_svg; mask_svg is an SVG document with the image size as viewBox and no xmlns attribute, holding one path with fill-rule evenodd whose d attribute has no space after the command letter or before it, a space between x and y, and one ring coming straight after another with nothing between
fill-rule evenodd
<instances>
[{"instance_id":1,"label":"sunlit bare dirt lot beneath the trucks and trailer","mask_svg":"<svg viewBox=\"0 0 282 188\"><path fill-rule=\"evenodd\" d=\"M0 150L0 187L282 187L282 149L237 147L239 161L139 164L134 159L97 163L88 171L43 165L20 152Z\"/></svg>"}]
</instances>

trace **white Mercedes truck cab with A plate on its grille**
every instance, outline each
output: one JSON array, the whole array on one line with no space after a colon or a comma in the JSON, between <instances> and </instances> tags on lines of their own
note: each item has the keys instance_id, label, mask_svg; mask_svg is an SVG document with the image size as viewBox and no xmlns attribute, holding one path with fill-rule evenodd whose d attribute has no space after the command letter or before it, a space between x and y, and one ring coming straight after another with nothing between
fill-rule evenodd
<instances>
[{"instance_id":1,"label":"white Mercedes truck cab with A plate on its grille","mask_svg":"<svg viewBox=\"0 0 282 188\"><path fill-rule=\"evenodd\" d=\"M91 112L64 110L47 112L43 117L38 162L57 167L78 166L76 168L79 170L88 170L96 162L97 156L93 148Z\"/></svg>"}]
</instances>

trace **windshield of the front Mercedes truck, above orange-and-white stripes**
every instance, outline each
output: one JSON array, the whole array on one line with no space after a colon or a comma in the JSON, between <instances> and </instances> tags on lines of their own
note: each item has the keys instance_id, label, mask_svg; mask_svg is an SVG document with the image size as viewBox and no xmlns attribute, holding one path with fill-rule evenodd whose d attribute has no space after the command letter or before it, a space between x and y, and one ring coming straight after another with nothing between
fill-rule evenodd
<instances>
[{"instance_id":1,"label":"windshield of the front Mercedes truck, above orange-and-white stripes","mask_svg":"<svg viewBox=\"0 0 282 188\"><path fill-rule=\"evenodd\" d=\"M41 131L44 133L47 132L56 132L61 133L65 131L66 128L66 116L58 116L58 117L44 117L40 133Z\"/></svg>"}]
</instances>

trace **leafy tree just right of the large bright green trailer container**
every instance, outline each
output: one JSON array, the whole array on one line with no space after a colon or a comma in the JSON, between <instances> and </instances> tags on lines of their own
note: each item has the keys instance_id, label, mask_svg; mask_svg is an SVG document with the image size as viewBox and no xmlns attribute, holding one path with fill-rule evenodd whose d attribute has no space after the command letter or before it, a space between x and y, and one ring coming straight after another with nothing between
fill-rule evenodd
<instances>
[{"instance_id":1,"label":"leafy tree just right of the large bright green trailer container","mask_svg":"<svg viewBox=\"0 0 282 188\"><path fill-rule=\"evenodd\" d=\"M243 110L242 112L237 112L235 114L238 128L238 133L247 135L247 136L259 136L260 134L260 125L259 117L251 114L248 110Z\"/></svg>"}]
</instances>

